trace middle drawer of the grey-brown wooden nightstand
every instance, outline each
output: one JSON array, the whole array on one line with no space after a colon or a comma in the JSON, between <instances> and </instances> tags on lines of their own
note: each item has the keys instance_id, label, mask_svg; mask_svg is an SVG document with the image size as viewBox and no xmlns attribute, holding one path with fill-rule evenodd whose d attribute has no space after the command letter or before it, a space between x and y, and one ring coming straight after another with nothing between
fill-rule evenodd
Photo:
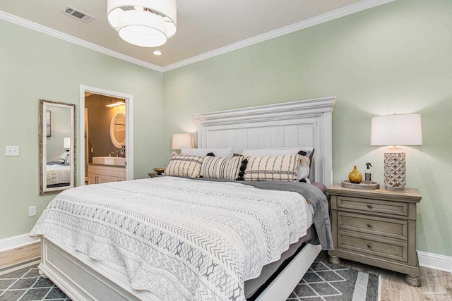
<instances>
[{"instance_id":1,"label":"middle drawer of the grey-brown wooden nightstand","mask_svg":"<svg viewBox=\"0 0 452 301\"><path fill-rule=\"evenodd\" d=\"M338 229L408 239L408 221L338 211Z\"/></svg>"}]
</instances>

